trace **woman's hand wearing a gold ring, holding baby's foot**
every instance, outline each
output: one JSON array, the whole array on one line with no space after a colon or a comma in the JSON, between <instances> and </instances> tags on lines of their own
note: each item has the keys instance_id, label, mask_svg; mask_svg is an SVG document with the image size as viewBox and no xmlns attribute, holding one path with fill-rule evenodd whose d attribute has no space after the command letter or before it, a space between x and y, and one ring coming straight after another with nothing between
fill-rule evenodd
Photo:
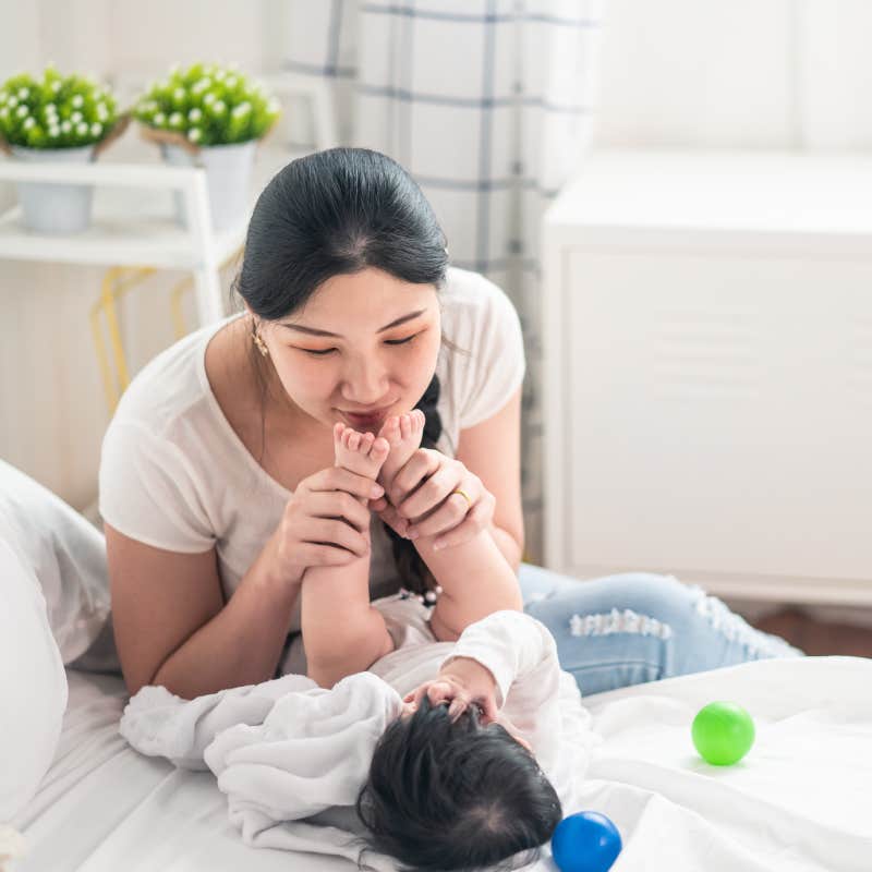
<instances>
[{"instance_id":1,"label":"woman's hand wearing a gold ring, holding baby's foot","mask_svg":"<svg viewBox=\"0 0 872 872\"><path fill-rule=\"evenodd\" d=\"M469 501L453 493L458 489ZM371 499L370 508L400 535L441 534L434 544L446 548L489 529L496 507L496 498L477 475L435 448L419 448L393 476L385 497Z\"/></svg>"}]
</instances>

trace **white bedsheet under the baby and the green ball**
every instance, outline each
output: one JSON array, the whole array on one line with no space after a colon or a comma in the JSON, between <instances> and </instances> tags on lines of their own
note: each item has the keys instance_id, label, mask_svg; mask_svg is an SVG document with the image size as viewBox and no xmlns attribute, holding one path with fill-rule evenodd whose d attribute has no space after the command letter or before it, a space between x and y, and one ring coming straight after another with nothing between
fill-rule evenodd
<instances>
[{"instance_id":1,"label":"white bedsheet under the baby and the green ball","mask_svg":"<svg viewBox=\"0 0 872 872\"><path fill-rule=\"evenodd\" d=\"M12 822L28 843L16 872L355 869L243 845L211 773L145 758L119 736L120 678L68 676L58 753ZM703 763L690 741L693 715L717 699L744 705L758 729L749 755L726 768ZM872 661L759 661L585 705L605 742L565 811L595 809L617 824L614 872L872 869Z\"/></svg>"}]
</instances>

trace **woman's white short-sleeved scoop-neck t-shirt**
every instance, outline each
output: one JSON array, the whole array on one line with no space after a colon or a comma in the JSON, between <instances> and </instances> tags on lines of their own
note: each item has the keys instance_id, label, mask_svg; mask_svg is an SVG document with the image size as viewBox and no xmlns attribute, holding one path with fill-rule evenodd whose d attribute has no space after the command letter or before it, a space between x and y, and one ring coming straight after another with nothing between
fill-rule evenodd
<instances>
[{"instance_id":1,"label":"woman's white short-sleeved scoop-neck t-shirt","mask_svg":"<svg viewBox=\"0 0 872 872\"><path fill-rule=\"evenodd\" d=\"M525 371L520 319L511 301L477 272L449 268L439 292L445 343L436 374L443 433L455 457L462 429L498 412ZM276 530L292 493L258 465L230 426L206 377L205 351L232 318L204 327L158 354L121 398L102 441L99 509L125 536L172 552L215 547L226 600ZM390 540L372 517L373 598L401 585ZM291 631L300 629L299 605Z\"/></svg>"}]
</instances>

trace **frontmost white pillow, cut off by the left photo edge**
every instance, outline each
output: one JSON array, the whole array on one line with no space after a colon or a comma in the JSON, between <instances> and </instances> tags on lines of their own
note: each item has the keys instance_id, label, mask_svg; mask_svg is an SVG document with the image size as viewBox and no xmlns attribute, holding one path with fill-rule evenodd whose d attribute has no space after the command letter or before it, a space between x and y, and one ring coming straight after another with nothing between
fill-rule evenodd
<instances>
[{"instance_id":1,"label":"frontmost white pillow, cut off by the left photo edge","mask_svg":"<svg viewBox=\"0 0 872 872\"><path fill-rule=\"evenodd\" d=\"M0 540L0 823L33 797L66 710L66 671L35 573Z\"/></svg>"}]
</instances>

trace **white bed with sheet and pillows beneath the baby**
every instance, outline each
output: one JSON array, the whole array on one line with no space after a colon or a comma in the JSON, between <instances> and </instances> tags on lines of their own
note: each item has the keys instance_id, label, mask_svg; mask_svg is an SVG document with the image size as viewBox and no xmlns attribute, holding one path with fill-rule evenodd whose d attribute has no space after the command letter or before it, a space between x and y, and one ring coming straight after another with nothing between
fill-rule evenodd
<instances>
[{"instance_id":1,"label":"white bed with sheet and pillows beneath the baby","mask_svg":"<svg viewBox=\"0 0 872 872\"><path fill-rule=\"evenodd\" d=\"M0 583L0 869L7 823L24 840L10 872L354 868L246 845L210 772L125 742L102 536L2 461ZM691 743L714 700L755 720L735 766L704 763ZM755 661L584 704L602 742L564 811L615 822L614 872L872 870L872 659ZM547 848L540 869L554 869Z\"/></svg>"}]
</instances>

